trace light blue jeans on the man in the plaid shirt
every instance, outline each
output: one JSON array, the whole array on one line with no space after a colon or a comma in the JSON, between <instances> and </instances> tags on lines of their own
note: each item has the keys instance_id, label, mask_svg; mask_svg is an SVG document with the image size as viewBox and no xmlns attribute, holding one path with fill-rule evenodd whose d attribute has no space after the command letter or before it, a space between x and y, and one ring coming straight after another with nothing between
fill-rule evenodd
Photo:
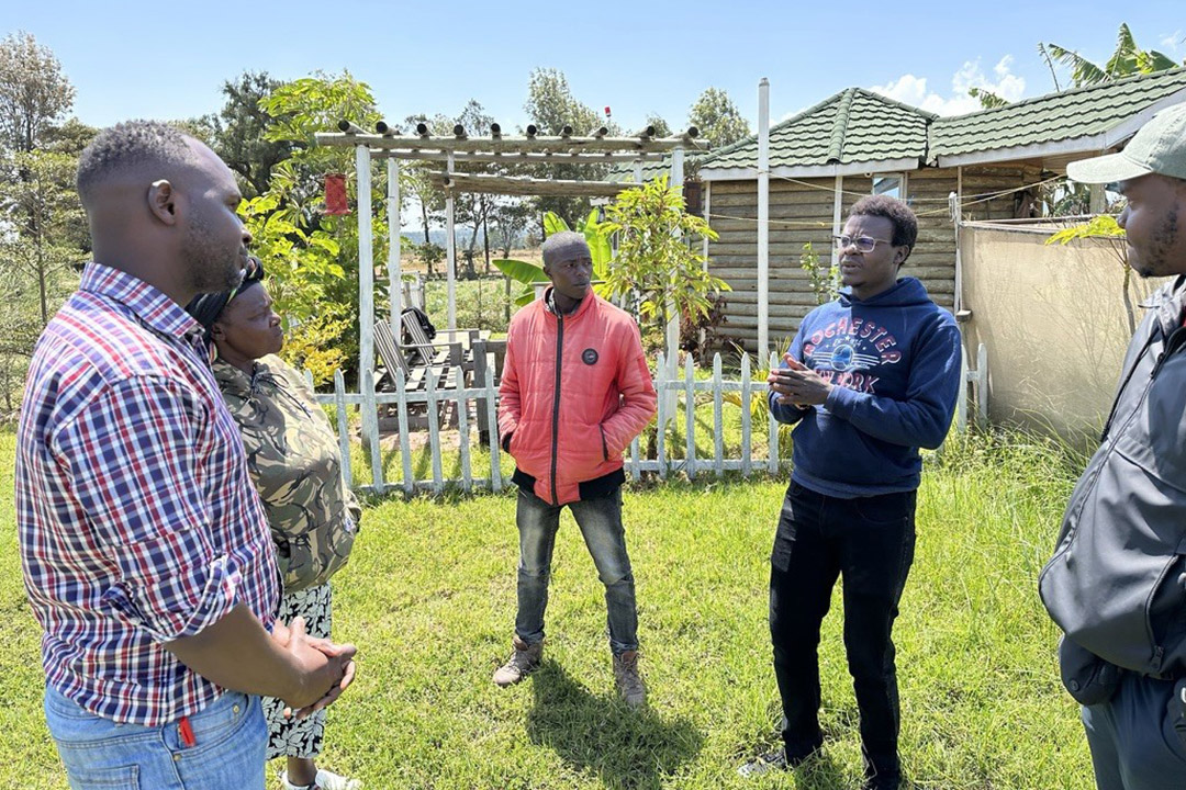
<instances>
[{"instance_id":1,"label":"light blue jeans on the man in the plaid shirt","mask_svg":"<svg viewBox=\"0 0 1186 790\"><path fill-rule=\"evenodd\" d=\"M45 720L72 790L263 790L268 726L257 696L225 692L191 715L190 747L177 722L116 724L50 687Z\"/></svg>"}]
</instances>

